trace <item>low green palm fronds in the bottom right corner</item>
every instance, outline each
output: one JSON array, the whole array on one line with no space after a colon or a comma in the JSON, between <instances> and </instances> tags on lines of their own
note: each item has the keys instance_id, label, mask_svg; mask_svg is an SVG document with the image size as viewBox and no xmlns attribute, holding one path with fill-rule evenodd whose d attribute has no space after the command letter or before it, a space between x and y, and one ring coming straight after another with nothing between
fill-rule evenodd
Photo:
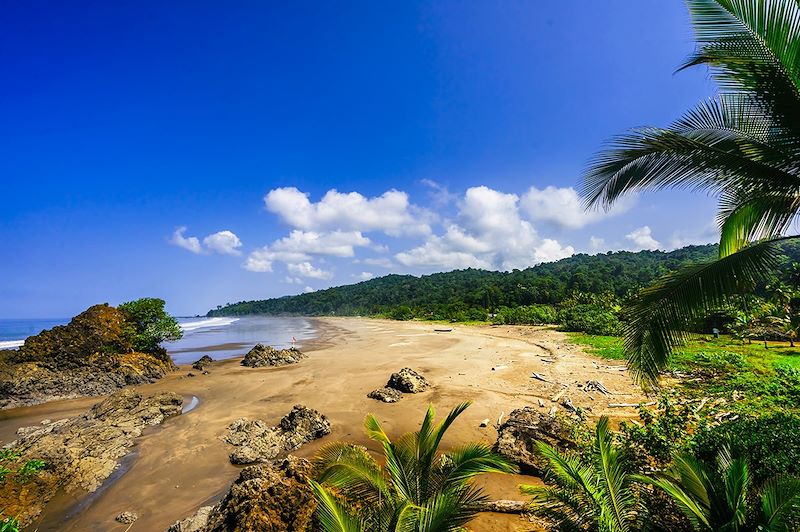
<instances>
[{"instance_id":1,"label":"low green palm fronds in the bottom right corner","mask_svg":"<svg viewBox=\"0 0 800 532\"><path fill-rule=\"evenodd\" d=\"M800 503L800 479L773 478L761 489L759 507L751 508L747 462L731 458L727 448L716 463L681 454L661 477L641 478L664 490L692 527L701 531L789 530L789 518Z\"/></svg>"}]
</instances>

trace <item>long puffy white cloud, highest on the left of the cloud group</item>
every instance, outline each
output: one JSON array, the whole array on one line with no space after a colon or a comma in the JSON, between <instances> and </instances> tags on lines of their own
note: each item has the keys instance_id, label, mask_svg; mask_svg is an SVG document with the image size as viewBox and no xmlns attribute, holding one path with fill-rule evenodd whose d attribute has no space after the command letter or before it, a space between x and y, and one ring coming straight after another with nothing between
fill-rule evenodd
<instances>
[{"instance_id":1,"label":"long puffy white cloud, highest on the left of the cloud group","mask_svg":"<svg viewBox=\"0 0 800 532\"><path fill-rule=\"evenodd\" d=\"M264 204L285 223L306 231L383 231L392 236L430 233L430 215L399 190L367 198L358 192L332 189L312 203L307 193L294 187L276 188L267 193Z\"/></svg>"}]
</instances>

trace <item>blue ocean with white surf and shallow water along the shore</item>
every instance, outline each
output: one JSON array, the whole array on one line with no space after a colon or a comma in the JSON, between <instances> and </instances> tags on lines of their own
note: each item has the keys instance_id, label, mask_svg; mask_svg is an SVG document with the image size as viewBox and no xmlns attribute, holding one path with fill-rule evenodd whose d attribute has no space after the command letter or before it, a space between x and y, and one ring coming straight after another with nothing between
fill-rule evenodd
<instances>
[{"instance_id":1,"label":"blue ocean with white surf and shallow water along the shore","mask_svg":"<svg viewBox=\"0 0 800 532\"><path fill-rule=\"evenodd\" d=\"M64 325L69 319L0 319L0 349L19 347L28 336L44 329ZM166 342L164 347L176 364L193 362L201 356L214 359L245 354L257 343L286 348L302 348L317 335L312 320L247 316L241 318L178 318L183 338Z\"/></svg>"}]
</instances>

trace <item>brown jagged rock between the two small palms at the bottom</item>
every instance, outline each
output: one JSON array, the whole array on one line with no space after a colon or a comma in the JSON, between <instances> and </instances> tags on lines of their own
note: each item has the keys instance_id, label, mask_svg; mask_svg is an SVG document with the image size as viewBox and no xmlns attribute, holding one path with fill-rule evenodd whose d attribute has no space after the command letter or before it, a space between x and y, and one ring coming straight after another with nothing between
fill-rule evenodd
<instances>
[{"instance_id":1,"label":"brown jagged rock between the two small palms at the bottom","mask_svg":"<svg viewBox=\"0 0 800 532\"><path fill-rule=\"evenodd\" d=\"M520 467L523 473L541 475L546 461L536 453L536 441L556 449L574 449L575 421L526 406L511 412L497 430L495 451Z\"/></svg>"}]
</instances>

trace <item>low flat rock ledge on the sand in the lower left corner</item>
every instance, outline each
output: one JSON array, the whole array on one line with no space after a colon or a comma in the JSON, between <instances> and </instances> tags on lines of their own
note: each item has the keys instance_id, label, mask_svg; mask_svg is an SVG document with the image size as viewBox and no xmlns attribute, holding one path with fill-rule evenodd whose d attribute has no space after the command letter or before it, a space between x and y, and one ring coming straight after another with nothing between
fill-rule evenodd
<instances>
[{"instance_id":1,"label":"low flat rock ledge on the sand in the lower left corner","mask_svg":"<svg viewBox=\"0 0 800 532\"><path fill-rule=\"evenodd\" d=\"M152 396L125 389L94 405L85 414L25 427L6 447L20 453L18 462L43 460L44 470L31 482L0 486L0 508L25 524L38 516L58 490L94 491L117 468L142 431L180 414L181 396Z\"/></svg>"}]
</instances>

